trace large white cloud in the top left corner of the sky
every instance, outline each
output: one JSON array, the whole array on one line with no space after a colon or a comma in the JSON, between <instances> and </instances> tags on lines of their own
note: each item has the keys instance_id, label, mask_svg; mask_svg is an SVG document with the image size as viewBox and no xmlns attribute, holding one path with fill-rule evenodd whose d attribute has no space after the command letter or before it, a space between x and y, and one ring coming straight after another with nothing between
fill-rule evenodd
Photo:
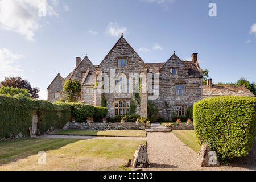
<instances>
[{"instance_id":1,"label":"large white cloud in the top left corner of the sky","mask_svg":"<svg viewBox=\"0 0 256 182\"><path fill-rule=\"evenodd\" d=\"M47 0L1 0L0 26L26 36L28 40L34 40L35 31L41 27L39 13L42 13L42 17L58 16Z\"/></svg>"}]
</instances>

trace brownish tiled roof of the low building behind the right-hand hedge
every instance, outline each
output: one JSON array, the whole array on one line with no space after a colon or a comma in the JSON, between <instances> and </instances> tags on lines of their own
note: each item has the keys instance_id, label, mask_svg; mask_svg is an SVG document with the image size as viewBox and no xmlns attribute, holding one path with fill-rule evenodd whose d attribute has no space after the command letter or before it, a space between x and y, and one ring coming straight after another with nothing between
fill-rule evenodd
<instances>
[{"instance_id":1,"label":"brownish tiled roof of the low building behind the right-hand hedge","mask_svg":"<svg viewBox=\"0 0 256 182\"><path fill-rule=\"evenodd\" d=\"M203 85L203 96L254 96L245 86L240 85Z\"/></svg>"}]
</instances>

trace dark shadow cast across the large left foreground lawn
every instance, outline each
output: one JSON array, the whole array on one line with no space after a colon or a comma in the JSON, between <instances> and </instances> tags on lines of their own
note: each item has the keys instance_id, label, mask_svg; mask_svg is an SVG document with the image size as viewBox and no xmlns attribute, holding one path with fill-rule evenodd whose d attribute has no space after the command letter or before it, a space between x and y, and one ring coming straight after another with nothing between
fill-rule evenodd
<instances>
[{"instance_id":1,"label":"dark shadow cast across the large left foreground lawn","mask_svg":"<svg viewBox=\"0 0 256 182\"><path fill-rule=\"evenodd\" d=\"M0 141L0 166L85 139L20 138Z\"/></svg>"}]
</instances>

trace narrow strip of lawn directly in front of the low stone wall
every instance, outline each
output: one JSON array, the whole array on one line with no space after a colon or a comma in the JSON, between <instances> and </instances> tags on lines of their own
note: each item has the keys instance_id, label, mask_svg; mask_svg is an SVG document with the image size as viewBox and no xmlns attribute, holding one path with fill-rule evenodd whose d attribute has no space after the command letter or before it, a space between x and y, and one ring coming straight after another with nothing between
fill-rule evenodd
<instances>
[{"instance_id":1,"label":"narrow strip of lawn directly in front of the low stone wall","mask_svg":"<svg viewBox=\"0 0 256 182\"><path fill-rule=\"evenodd\" d=\"M97 135L97 136L116 136L116 137L146 137L147 131L144 130L63 130L56 131L54 134L75 134L75 135Z\"/></svg>"}]
</instances>

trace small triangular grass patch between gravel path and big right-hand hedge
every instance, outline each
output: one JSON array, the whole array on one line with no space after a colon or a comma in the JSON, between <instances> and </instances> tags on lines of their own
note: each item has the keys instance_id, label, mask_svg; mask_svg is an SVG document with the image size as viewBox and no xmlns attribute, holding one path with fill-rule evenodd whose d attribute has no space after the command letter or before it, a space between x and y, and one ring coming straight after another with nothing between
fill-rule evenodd
<instances>
[{"instance_id":1,"label":"small triangular grass patch between gravel path and big right-hand hedge","mask_svg":"<svg viewBox=\"0 0 256 182\"><path fill-rule=\"evenodd\" d=\"M172 133L195 152L200 151L201 146L196 142L195 130L172 130Z\"/></svg>"}]
</instances>

